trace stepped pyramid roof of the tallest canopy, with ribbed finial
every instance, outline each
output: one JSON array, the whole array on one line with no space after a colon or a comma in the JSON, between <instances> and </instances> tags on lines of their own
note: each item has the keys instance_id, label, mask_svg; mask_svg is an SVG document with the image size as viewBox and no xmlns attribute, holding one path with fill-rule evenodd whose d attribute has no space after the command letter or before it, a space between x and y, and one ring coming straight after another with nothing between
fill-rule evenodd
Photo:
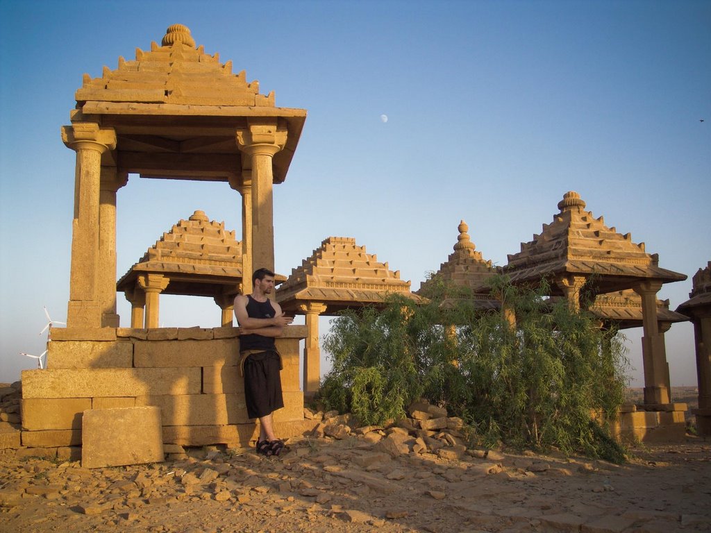
<instances>
[{"instance_id":1,"label":"stepped pyramid roof of the tallest canopy, with ribbed finial","mask_svg":"<svg viewBox=\"0 0 711 533\"><path fill-rule=\"evenodd\" d=\"M260 94L245 71L232 74L232 61L196 48L190 30L170 26L159 46L136 49L135 60L119 57L102 77L85 74L75 93L72 122L99 122L117 134L118 161L144 177L230 181L241 178L242 155L235 130L260 119L277 119L288 131L286 146L273 158L274 183L286 177L304 109L275 107L274 92ZM105 154L105 158L112 157Z\"/></svg>"}]
</instances>

